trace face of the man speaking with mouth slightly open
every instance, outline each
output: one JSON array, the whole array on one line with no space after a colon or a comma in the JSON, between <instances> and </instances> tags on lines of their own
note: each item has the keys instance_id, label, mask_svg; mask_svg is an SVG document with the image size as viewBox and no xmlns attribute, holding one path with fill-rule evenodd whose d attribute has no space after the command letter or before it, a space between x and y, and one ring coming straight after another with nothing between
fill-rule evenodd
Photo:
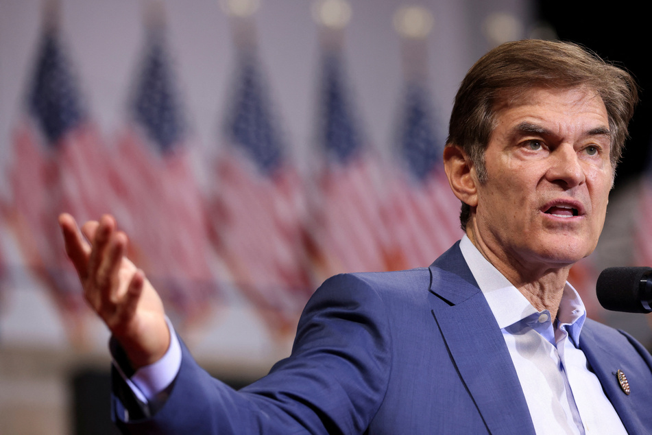
<instances>
[{"instance_id":1,"label":"face of the man speaking with mouth slightly open","mask_svg":"<svg viewBox=\"0 0 652 435\"><path fill-rule=\"evenodd\" d=\"M522 268L559 268L598 242L613 168L607 110L587 89L532 89L499 106L476 183L473 236Z\"/></svg>"}]
</instances>

